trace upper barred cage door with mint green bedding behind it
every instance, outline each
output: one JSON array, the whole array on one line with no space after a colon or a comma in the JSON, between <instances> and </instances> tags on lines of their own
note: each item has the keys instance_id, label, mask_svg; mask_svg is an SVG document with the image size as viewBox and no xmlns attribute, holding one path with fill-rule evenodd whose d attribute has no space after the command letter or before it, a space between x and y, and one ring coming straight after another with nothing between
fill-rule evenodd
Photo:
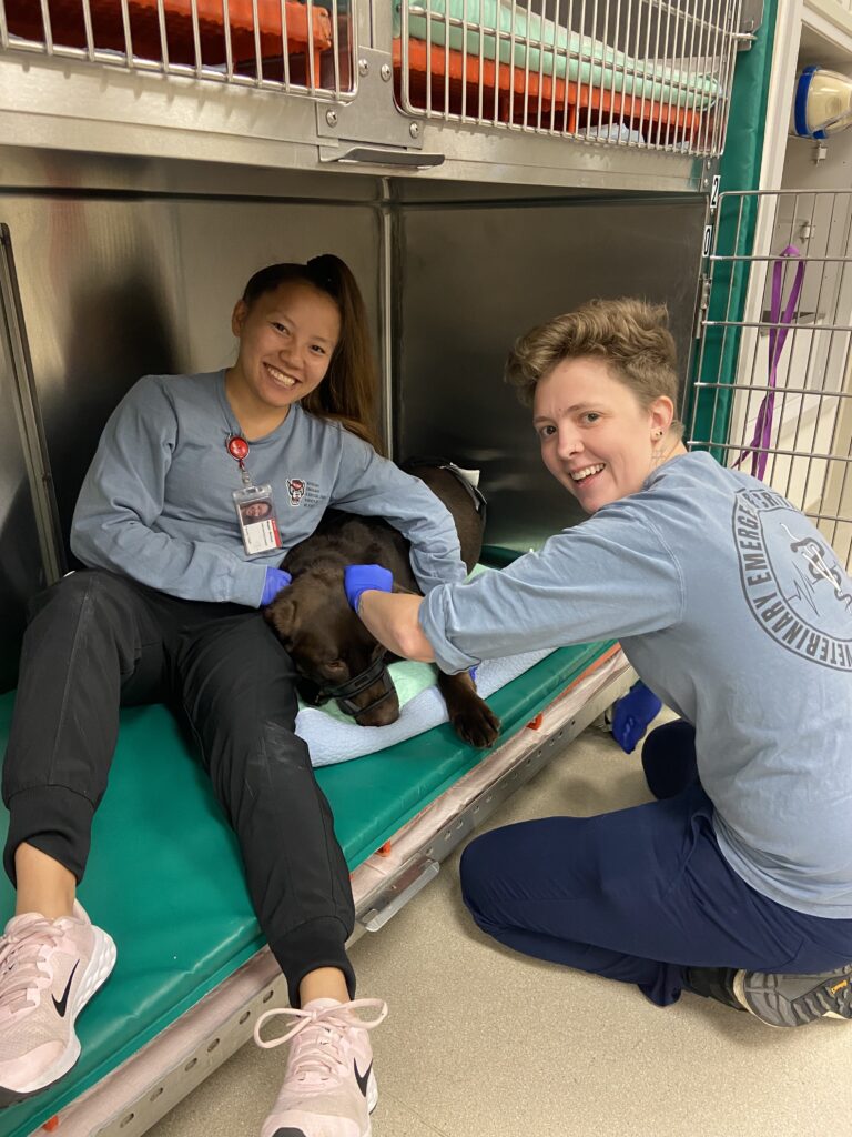
<instances>
[{"instance_id":1,"label":"upper barred cage door with mint green bedding behind it","mask_svg":"<svg viewBox=\"0 0 852 1137\"><path fill-rule=\"evenodd\" d=\"M717 157L741 0L393 0L407 114Z\"/></svg>"}]
</instances>

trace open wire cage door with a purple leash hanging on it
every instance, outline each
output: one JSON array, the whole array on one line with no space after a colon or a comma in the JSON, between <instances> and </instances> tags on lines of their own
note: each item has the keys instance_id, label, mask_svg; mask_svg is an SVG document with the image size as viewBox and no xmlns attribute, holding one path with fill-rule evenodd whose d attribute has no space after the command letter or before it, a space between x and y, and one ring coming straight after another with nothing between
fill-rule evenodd
<instances>
[{"instance_id":1,"label":"open wire cage door with a purple leash hanging on it","mask_svg":"<svg viewBox=\"0 0 852 1137\"><path fill-rule=\"evenodd\" d=\"M768 234L766 247L746 251L752 229ZM720 196L686 438L746 472L765 456L762 480L815 521L847 566L851 265L851 190ZM797 272L801 293L785 322Z\"/></svg>"}]
</instances>

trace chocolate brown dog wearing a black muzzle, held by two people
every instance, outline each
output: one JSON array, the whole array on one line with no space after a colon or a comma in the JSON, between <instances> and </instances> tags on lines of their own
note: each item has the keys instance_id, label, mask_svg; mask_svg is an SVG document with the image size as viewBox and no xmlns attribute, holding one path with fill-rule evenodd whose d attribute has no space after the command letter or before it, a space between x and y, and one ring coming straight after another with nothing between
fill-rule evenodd
<instances>
[{"instance_id":1,"label":"chocolate brown dog wearing a black muzzle, held by two people","mask_svg":"<svg viewBox=\"0 0 852 1137\"><path fill-rule=\"evenodd\" d=\"M482 549L484 520L475 496L446 466L420 465L417 476L456 521L461 558L473 568ZM400 715L386 671L386 653L350 608L343 591L349 564L379 564L393 573L394 589L419 592L409 545L392 525L327 509L315 532L290 550L282 568L293 581L265 614L300 674L299 692L314 705L335 698L362 727L384 727ZM438 672L437 686L450 722L471 746L491 746L500 721L476 694L470 677Z\"/></svg>"}]
</instances>

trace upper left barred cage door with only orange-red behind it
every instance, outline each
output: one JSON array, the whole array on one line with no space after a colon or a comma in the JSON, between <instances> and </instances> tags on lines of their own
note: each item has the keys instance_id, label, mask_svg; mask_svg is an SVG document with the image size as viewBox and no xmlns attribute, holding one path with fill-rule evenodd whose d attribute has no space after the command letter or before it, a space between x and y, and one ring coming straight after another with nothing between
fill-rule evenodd
<instances>
[{"instance_id":1,"label":"upper left barred cage door with only orange-red behind it","mask_svg":"<svg viewBox=\"0 0 852 1137\"><path fill-rule=\"evenodd\" d=\"M360 0L0 0L0 51L341 101Z\"/></svg>"}]
</instances>

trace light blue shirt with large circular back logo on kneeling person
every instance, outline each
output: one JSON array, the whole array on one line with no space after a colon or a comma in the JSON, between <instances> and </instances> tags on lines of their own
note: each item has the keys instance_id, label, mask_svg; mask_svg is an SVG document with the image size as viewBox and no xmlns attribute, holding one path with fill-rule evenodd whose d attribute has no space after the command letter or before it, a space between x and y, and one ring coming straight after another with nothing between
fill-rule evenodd
<instances>
[{"instance_id":1,"label":"light blue shirt with large circular back logo on kneeling person","mask_svg":"<svg viewBox=\"0 0 852 1137\"><path fill-rule=\"evenodd\" d=\"M435 589L438 664L618 638L695 727L719 846L759 893L852 918L852 581L780 495L707 454L500 573Z\"/></svg>"}]
</instances>

